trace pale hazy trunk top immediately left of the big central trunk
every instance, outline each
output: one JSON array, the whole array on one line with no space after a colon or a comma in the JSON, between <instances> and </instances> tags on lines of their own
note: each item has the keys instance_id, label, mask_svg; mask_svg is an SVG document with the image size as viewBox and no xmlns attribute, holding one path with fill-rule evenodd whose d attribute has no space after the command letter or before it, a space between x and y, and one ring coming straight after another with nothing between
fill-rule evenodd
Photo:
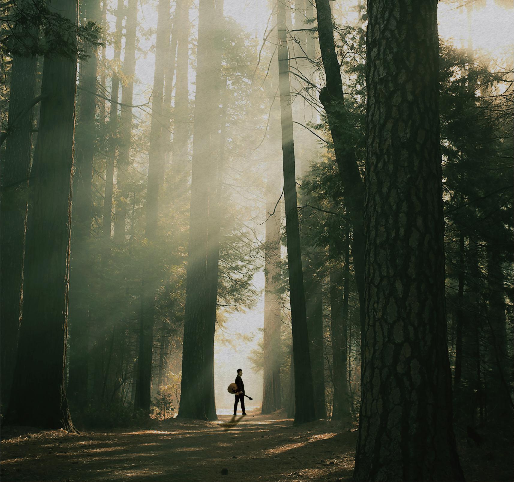
<instances>
[{"instance_id":1,"label":"pale hazy trunk top immediately left of the big central trunk","mask_svg":"<svg viewBox=\"0 0 514 482\"><path fill-rule=\"evenodd\" d=\"M189 6L191 0L177 0L175 7L177 68L173 110L172 173L176 197L185 193L191 171L188 158L189 112ZM175 29L174 29L175 30Z\"/></svg>"}]
</instances>

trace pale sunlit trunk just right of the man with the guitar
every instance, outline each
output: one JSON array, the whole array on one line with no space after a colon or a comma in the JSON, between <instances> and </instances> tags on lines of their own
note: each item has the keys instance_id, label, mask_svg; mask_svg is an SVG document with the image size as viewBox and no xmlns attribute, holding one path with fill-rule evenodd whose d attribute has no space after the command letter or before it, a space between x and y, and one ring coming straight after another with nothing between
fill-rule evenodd
<instances>
[{"instance_id":1,"label":"pale sunlit trunk just right of the man with the guitar","mask_svg":"<svg viewBox=\"0 0 514 482\"><path fill-rule=\"evenodd\" d=\"M282 217L280 188L271 173L268 175L266 205L266 245L264 252L264 373L262 413L269 414L282 407L280 386L280 224Z\"/></svg>"}]
</instances>

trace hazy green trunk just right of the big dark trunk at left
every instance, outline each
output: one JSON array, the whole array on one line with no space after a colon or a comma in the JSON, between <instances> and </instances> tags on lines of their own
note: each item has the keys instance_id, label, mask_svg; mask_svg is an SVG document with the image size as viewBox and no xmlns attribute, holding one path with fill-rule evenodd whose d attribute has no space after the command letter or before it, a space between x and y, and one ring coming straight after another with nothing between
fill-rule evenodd
<instances>
[{"instance_id":1,"label":"hazy green trunk just right of the big dark trunk at left","mask_svg":"<svg viewBox=\"0 0 514 482\"><path fill-rule=\"evenodd\" d=\"M100 1L89 0L83 6L86 21L100 22ZM71 273L69 332L70 355L67 393L77 406L87 403L89 346L88 241L93 215L93 157L95 154L97 52L88 47L89 59L82 62L80 114L75 140L73 223L71 233Z\"/></svg>"}]
</instances>

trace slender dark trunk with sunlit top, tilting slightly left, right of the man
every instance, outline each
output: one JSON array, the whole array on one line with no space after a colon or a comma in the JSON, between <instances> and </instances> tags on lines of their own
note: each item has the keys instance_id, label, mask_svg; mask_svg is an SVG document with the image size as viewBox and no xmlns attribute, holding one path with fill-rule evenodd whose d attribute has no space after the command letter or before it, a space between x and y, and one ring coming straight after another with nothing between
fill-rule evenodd
<instances>
[{"instance_id":1,"label":"slender dark trunk with sunlit top, tilting slightly left, right of the man","mask_svg":"<svg viewBox=\"0 0 514 482\"><path fill-rule=\"evenodd\" d=\"M291 304L293 361L295 363L295 423L315 419L313 375L310 366L305 292L303 288L302 252L298 226L298 204L295 176L295 145L293 142L289 55L287 52L286 9L278 0L278 51L280 113L282 122L282 156L284 164L284 200L286 213L287 259Z\"/></svg>"}]
</instances>

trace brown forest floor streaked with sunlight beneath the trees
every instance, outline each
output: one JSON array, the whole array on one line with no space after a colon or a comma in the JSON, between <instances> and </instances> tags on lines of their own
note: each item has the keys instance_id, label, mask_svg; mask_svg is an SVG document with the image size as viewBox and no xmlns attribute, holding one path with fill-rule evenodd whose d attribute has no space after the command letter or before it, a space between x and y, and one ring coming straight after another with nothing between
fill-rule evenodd
<instances>
[{"instance_id":1,"label":"brown forest floor streaked with sunlight beneath the trees","mask_svg":"<svg viewBox=\"0 0 514 482\"><path fill-rule=\"evenodd\" d=\"M171 419L151 429L69 434L2 430L0 477L8 480L350 480L357 427L320 420L293 426L283 414ZM507 448L507 450L509 450ZM510 456L464 441L467 480L512 480ZM503 463L502 463L503 462Z\"/></svg>"}]
</instances>

